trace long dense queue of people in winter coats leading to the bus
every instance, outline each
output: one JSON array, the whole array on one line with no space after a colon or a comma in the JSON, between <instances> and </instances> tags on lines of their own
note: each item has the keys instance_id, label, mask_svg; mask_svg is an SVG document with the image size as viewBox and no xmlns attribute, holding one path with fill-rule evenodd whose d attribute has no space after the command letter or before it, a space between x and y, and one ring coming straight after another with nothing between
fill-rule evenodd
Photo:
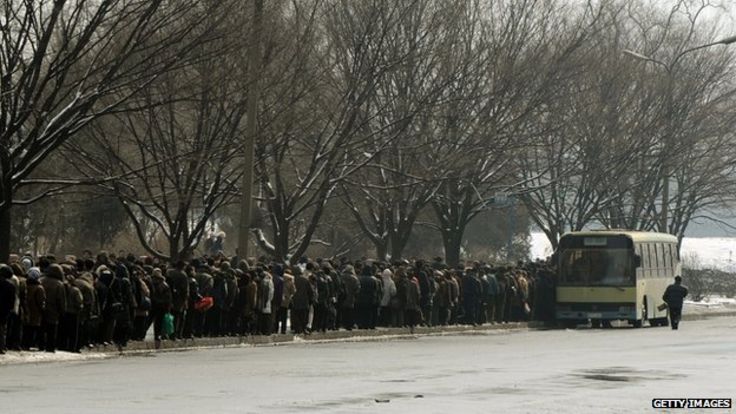
<instances>
[{"instance_id":1,"label":"long dense queue of people in winter coats leading to the bus","mask_svg":"<svg viewBox=\"0 0 736 414\"><path fill-rule=\"evenodd\" d=\"M89 255L88 255L89 256ZM544 262L452 269L441 258L287 265L222 255L173 265L152 257L23 256L0 264L0 353L196 337L480 325L554 319Z\"/></svg>"}]
</instances>

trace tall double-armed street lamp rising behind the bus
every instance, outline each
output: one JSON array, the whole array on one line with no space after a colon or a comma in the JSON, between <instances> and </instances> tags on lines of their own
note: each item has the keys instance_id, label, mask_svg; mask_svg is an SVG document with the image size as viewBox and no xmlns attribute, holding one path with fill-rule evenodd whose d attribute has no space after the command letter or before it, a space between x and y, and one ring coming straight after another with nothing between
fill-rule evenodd
<instances>
[{"instance_id":1,"label":"tall double-armed street lamp rising behind the bus","mask_svg":"<svg viewBox=\"0 0 736 414\"><path fill-rule=\"evenodd\" d=\"M685 49L682 52L678 53L677 56L674 57L669 63L662 62L661 60L654 59L650 56L634 52L633 50L624 49L622 51L623 54L633 57L634 59L643 60L645 62L652 62L654 64L660 65L664 68L664 70L667 72L667 96L666 96L666 105L667 105L667 128L668 131L665 134L664 142L663 142L663 149L662 149L662 211L660 212L659 217L659 231L662 233L669 233L669 230L667 228L667 214L668 214L668 208L669 208L669 193L670 193L670 171L669 171L669 163L667 161L667 147L669 147L669 141L671 140L671 135L674 133L674 123L673 123L673 102L672 102L672 86L674 84L674 77L672 76L672 72L675 69L675 66L680 61L680 59L685 56L686 54L690 52L694 52L696 50L705 49L707 47L716 46L716 45L730 45L731 43L736 42L736 36L729 36L726 38L723 38L721 40L706 43L703 45L691 47L689 49Z\"/></svg>"}]
</instances>

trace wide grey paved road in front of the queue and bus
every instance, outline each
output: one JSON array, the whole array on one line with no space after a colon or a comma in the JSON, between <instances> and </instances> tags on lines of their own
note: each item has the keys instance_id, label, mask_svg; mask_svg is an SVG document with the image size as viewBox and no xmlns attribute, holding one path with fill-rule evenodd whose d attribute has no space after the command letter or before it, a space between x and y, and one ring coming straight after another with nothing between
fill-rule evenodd
<instances>
[{"instance_id":1,"label":"wide grey paved road in front of the queue and bus","mask_svg":"<svg viewBox=\"0 0 736 414\"><path fill-rule=\"evenodd\" d=\"M736 398L736 318L0 366L2 413L652 413L658 397Z\"/></svg>"}]
</instances>

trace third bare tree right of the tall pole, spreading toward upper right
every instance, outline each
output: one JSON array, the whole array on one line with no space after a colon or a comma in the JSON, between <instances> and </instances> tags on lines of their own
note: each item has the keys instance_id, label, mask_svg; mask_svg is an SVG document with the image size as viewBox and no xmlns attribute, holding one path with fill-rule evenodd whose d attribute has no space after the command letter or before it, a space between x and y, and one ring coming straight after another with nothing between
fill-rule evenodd
<instances>
[{"instance_id":1,"label":"third bare tree right of the tall pole, spreading toward upper right","mask_svg":"<svg viewBox=\"0 0 736 414\"><path fill-rule=\"evenodd\" d=\"M515 159L537 138L530 125L552 105L570 57L600 15L585 9L568 22L568 9L556 2L489 7L469 10L470 18L480 15L481 20L468 26L461 43L465 49L458 49L453 62L462 75L447 91L436 131L441 138L432 151L455 154L451 178L432 201L451 265L460 262L466 226L489 199L497 192L525 191L529 177L518 179Z\"/></svg>"}]
</instances>

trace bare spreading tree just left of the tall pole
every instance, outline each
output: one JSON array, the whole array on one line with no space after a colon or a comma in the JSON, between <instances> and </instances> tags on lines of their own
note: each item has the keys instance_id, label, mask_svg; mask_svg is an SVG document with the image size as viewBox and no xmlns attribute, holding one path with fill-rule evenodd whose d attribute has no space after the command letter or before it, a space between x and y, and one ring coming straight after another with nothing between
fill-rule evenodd
<instances>
[{"instance_id":1,"label":"bare spreading tree just left of the tall pole","mask_svg":"<svg viewBox=\"0 0 736 414\"><path fill-rule=\"evenodd\" d=\"M139 93L145 109L115 114L68 143L80 172L113 177L98 187L120 200L140 243L161 259L190 258L214 212L237 194L242 168L233 143L246 99L233 37L221 40L218 59L159 76ZM151 232L164 236L166 250L150 242Z\"/></svg>"}]
</instances>

